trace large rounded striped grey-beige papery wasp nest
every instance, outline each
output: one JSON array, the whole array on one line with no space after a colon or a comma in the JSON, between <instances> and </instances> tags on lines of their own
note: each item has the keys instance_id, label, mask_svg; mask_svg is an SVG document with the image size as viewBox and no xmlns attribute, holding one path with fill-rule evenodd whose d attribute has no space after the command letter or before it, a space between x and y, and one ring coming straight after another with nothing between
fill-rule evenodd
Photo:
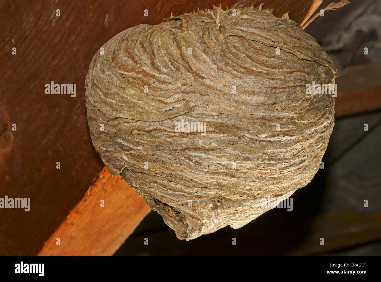
<instances>
[{"instance_id":1,"label":"large rounded striped grey-beige papery wasp nest","mask_svg":"<svg viewBox=\"0 0 381 282\"><path fill-rule=\"evenodd\" d=\"M337 73L295 22L215 7L102 47L85 84L94 147L179 239L240 228L319 169L335 98L306 85Z\"/></svg>"}]
</instances>

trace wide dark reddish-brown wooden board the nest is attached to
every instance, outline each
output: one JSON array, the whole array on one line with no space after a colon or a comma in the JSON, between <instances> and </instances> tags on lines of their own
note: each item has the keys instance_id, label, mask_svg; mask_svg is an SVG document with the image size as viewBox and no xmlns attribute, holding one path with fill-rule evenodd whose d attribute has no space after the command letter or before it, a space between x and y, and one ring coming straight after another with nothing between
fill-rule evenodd
<instances>
[{"instance_id":1,"label":"wide dark reddish-brown wooden board the nest is attached to","mask_svg":"<svg viewBox=\"0 0 381 282\"><path fill-rule=\"evenodd\" d=\"M31 204L29 212L0 210L0 255L37 254L103 167L90 140L84 101L88 66L102 44L134 25L158 24L171 13L235 2L0 3L0 196L30 198ZM290 19L301 23L316 0L255 0L248 5L262 2L263 8L275 8L275 15L289 12ZM145 9L149 17L144 17ZM76 97L45 95L51 81L76 84ZM11 131L14 123L17 131Z\"/></svg>"}]
</instances>

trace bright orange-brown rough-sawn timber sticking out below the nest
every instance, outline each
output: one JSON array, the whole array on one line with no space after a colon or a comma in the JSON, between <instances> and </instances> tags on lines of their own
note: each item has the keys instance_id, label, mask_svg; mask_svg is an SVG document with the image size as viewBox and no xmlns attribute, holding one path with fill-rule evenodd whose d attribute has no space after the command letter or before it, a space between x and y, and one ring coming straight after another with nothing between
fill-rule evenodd
<instances>
[{"instance_id":1,"label":"bright orange-brown rough-sawn timber sticking out below the nest","mask_svg":"<svg viewBox=\"0 0 381 282\"><path fill-rule=\"evenodd\" d=\"M104 167L38 255L113 255L150 210L122 177Z\"/></svg>"}]
</instances>

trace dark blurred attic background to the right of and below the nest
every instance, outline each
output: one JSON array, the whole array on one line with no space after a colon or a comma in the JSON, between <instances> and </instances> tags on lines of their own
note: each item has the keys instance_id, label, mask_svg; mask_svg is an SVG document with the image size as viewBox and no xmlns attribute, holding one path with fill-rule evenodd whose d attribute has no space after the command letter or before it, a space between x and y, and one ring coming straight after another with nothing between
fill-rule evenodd
<instances>
[{"instance_id":1,"label":"dark blurred attic background to the right of and below the nest","mask_svg":"<svg viewBox=\"0 0 381 282\"><path fill-rule=\"evenodd\" d=\"M348 92L348 107L361 107L367 97L381 99L381 1L350 2L319 16L306 32L335 62L339 95ZM291 196L291 212L272 209L240 229L228 226L188 242L150 212L115 255L381 255L380 140L379 110L335 118L324 169ZM321 237L330 244L319 245Z\"/></svg>"}]
</instances>

